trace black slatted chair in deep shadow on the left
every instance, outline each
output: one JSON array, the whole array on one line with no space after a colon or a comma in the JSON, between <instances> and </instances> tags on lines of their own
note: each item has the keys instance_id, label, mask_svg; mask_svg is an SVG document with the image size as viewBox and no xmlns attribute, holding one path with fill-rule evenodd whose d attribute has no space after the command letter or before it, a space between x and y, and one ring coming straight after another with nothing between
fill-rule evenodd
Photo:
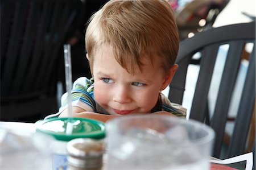
<instances>
[{"instance_id":1,"label":"black slatted chair in deep shadow on the left","mask_svg":"<svg viewBox=\"0 0 256 170\"><path fill-rule=\"evenodd\" d=\"M1 121L35 122L57 111L63 44L83 13L79 0L1 1Z\"/></svg>"}]
</instances>

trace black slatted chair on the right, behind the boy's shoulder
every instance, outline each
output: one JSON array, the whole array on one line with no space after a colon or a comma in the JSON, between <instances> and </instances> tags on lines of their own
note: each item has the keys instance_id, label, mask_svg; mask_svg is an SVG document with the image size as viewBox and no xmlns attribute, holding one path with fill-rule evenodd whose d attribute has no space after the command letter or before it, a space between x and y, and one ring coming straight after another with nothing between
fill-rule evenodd
<instances>
[{"instance_id":1,"label":"black slatted chair on the right, behind the boy's shoulder","mask_svg":"<svg viewBox=\"0 0 256 170\"><path fill-rule=\"evenodd\" d=\"M246 52L245 45L253 44L250 53ZM220 86L214 93L217 94L216 105L213 112L209 110L209 89L212 82L213 70L220 46L229 44ZM199 52L199 53L198 53ZM197 58L195 58L197 53ZM222 56L225 57L225 56ZM234 96L238 70L241 61L246 60L247 67L245 82L240 98ZM176 63L179 69L170 84L169 98L171 102L182 104L186 83L188 65L199 64L200 71L196 81L195 93L192 99L190 119L205 122L216 132L213 156L221 159L244 154L246 139L251 122L251 115L255 105L255 22L233 24L199 32L190 39L180 43ZM233 135L228 144L228 151L224 157L223 138L225 126L232 99L240 101L236 119L234 121Z\"/></svg>"}]
</instances>

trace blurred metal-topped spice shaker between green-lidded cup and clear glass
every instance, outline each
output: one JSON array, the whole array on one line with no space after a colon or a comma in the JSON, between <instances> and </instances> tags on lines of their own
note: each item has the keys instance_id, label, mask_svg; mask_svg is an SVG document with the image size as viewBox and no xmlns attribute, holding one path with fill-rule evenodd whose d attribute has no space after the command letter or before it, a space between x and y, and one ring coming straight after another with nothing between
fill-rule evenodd
<instances>
[{"instance_id":1,"label":"blurred metal-topped spice shaker between green-lidded cup and clear glass","mask_svg":"<svg viewBox=\"0 0 256 170\"><path fill-rule=\"evenodd\" d=\"M101 170L104 142L77 138L68 142L68 170Z\"/></svg>"}]
</instances>

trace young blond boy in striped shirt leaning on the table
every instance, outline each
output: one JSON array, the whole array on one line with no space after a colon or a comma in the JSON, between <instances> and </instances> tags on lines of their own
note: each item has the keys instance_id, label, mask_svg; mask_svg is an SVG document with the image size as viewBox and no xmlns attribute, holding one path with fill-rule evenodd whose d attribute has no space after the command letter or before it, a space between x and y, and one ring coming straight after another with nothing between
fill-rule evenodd
<instances>
[{"instance_id":1,"label":"young blond boy in striped shirt leaning on the table","mask_svg":"<svg viewBox=\"0 0 256 170\"><path fill-rule=\"evenodd\" d=\"M166 1L109 1L89 20L85 44L93 78L74 82L75 117L103 122L130 114L185 117L160 93L178 68L179 34ZM60 117L67 117L67 93L61 101Z\"/></svg>"}]
</instances>

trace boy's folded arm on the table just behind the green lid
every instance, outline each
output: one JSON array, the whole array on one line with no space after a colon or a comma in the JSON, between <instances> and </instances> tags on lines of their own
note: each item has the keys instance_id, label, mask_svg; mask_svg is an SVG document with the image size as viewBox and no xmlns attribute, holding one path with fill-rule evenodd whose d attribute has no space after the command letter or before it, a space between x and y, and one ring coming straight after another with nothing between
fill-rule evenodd
<instances>
[{"instance_id":1,"label":"boy's folded arm on the table just behind the green lid","mask_svg":"<svg viewBox=\"0 0 256 170\"><path fill-rule=\"evenodd\" d=\"M101 122L106 122L109 119L117 117L115 115L100 114L100 113L94 113L91 111L85 111L81 107L77 107L77 106L72 107L72 112L73 112L73 117L96 119L97 121L101 121ZM63 112L59 115L59 117L68 117L68 109L63 110Z\"/></svg>"}]
</instances>

